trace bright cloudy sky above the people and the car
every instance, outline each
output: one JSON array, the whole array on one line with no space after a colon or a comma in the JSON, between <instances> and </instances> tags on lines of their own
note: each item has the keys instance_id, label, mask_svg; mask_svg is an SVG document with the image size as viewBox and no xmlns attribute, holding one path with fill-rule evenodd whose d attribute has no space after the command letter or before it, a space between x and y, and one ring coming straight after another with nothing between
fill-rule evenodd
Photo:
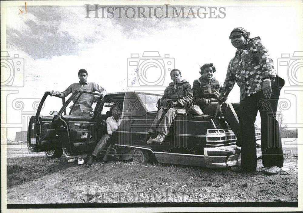
<instances>
[{"instance_id":1,"label":"bright cloudy sky above the people and the car","mask_svg":"<svg viewBox=\"0 0 303 213\"><path fill-rule=\"evenodd\" d=\"M24 11L24 5L7 8L7 51L11 56L19 54L24 58L24 87L17 88L18 93L13 99L41 98L46 90L63 91L78 82L81 68L88 71L88 82L98 83L108 93L138 90L140 88L127 84L129 76L134 75L128 60L131 54L141 57L144 51L159 51L161 57L169 54L169 60L175 62L182 78L190 84L199 77L199 67L212 62L217 68L214 76L223 84L228 62L235 54L228 36L238 26L251 32L251 37L261 37L276 67L281 53L292 56L294 51L302 51L303 47L301 4L299 7L296 3L248 6L247 2L241 1L236 5L223 2L218 7L226 8L226 17L215 19L103 19L85 18L84 3L82 6L33 6L29 3L26 14L20 15L18 9ZM189 8L185 6L185 11ZM195 11L198 6L193 8ZM115 15L117 17L117 11ZM287 72L278 74L288 78ZM151 72L148 75L153 76ZM164 85L170 81L166 70ZM282 93L281 97L286 97ZM239 101L238 86L228 100ZM11 118L14 120L20 117L18 113L20 111L9 108L7 114L14 114L16 118Z\"/></svg>"}]
</instances>

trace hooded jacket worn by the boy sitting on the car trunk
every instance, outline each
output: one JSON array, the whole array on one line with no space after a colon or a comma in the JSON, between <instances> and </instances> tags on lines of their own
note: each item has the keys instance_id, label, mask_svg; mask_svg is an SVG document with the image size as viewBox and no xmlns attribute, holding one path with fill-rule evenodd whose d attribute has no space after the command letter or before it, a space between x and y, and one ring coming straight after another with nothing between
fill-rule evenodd
<instances>
[{"instance_id":1,"label":"hooded jacket worn by the boy sitting on the car trunk","mask_svg":"<svg viewBox=\"0 0 303 213\"><path fill-rule=\"evenodd\" d=\"M180 106L176 106L178 113L185 113L186 110L192 109L193 92L191 85L187 80L183 79L175 84L174 82L169 83L169 86L165 88L164 95L160 101L161 108L168 110L172 107L172 102L177 101Z\"/></svg>"}]
</instances>

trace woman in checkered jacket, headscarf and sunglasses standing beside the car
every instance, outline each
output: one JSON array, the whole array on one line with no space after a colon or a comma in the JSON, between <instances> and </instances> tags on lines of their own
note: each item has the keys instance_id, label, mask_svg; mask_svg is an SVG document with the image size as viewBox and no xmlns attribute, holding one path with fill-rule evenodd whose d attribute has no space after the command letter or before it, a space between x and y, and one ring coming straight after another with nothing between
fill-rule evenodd
<instances>
[{"instance_id":1,"label":"woman in checkered jacket, headscarf and sunglasses standing beside the car","mask_svg":"<svg viewBox=\"0 0 303 213\"><path fill-rule=\"evenodd\" d=\"M243 143L241 166L231 170L249 172L255 171L257 167L254 123L259 110L262 162L264 167L268 167L265 174L274 175L278 174L283 166L283 150L276 112L284 80L277 76L273 60L261 43L260 37L251 39L249 35L250 33L241 27L233 29L230 33L229 39L237 51L229 62L215 116L221 115L221 104L226 102L228 94L237 82L240 87L238 118ZM278 86L278 83L281 85Z\"/></svg>"}]
</instances>

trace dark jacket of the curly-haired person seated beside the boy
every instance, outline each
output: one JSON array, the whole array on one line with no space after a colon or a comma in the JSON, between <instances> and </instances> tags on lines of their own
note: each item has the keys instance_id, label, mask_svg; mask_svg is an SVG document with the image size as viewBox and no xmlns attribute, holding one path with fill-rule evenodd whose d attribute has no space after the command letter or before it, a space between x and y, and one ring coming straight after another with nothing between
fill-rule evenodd
<instances>
[{"instance_id":1,"label":"dark jacket of the curly-haired person seated beside the boy","mask_svg":"<svg viewBox=\"0 0 303 213\"><path fill-rule=\"evenodd\" d=\"M222 88L218 80L212 78L208 81L203 76L198 80L194 80L192 86L195 104L202 107L210 103L210 100L218 99Z\"/></svg>"}]
</instances>

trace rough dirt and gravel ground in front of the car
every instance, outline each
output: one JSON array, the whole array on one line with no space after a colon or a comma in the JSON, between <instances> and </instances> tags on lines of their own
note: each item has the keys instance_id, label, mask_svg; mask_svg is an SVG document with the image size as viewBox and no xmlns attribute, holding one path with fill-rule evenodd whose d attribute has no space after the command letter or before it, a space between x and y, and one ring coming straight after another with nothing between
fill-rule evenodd
<instances>
[{"instance_id":1,"label":"rough dirt and gravel ground in front of the car","mask_svg":"<svg viewBox=\"0 0 303 213\"><path fill-rule=\"evenodd\" d=\"M234 173L158 162L97 160L91 167L43 155L7 159L7 203L297 202L298 156L285 155L283 171ZM97 195L97 196L96 196Z\"/></svg>"}]
</instances>

